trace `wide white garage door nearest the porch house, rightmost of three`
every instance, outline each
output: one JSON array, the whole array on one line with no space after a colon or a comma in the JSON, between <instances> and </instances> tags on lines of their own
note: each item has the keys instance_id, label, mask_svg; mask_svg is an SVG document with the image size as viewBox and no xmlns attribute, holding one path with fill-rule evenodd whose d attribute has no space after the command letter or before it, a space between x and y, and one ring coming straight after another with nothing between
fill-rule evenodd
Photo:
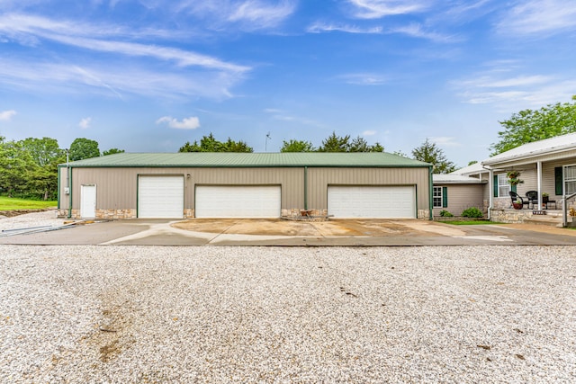
<instances>
[{"instance_id":1,"label":"wide white garage door nearest the porch house, rightmost of three","mask_svg":"<svg viewBox=\"0 0 576 384\"><path fill-rule=\"evenodd\" d=\"M328 213L335 218L416 216L413 186L329 186Z\"/></svg>"}]
</instances>

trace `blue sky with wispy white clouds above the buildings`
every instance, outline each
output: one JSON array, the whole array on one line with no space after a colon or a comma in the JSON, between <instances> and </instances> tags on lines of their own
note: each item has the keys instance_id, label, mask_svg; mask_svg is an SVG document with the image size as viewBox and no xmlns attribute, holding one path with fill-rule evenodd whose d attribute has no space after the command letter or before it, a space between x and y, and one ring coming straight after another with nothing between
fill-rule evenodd
<instances>
[{"instance_id":1,"label":"blue sky with wispy white clouds above the buildings","mask_svg":"<svg viewBox=\"0 0 576 384\"><path fill-rule=\"evenodd\" d=\"M336 131L464 166L498 121L571 101L575 38L565 0L0 0L0 135L276 152Z\"/></svg>"}]
</instances>

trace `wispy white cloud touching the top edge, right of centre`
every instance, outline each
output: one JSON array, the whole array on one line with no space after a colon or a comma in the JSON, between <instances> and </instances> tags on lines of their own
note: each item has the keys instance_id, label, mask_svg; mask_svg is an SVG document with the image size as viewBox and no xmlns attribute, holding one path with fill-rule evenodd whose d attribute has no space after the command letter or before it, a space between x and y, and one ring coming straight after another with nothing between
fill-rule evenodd
<instances>
[{"instance_id":1,"label":"wispy white cloud touching the top edge, right of centre","mask_svg":"<svg viewBox=\"0 0 576 384\"><path fill-rule=\"evenodd\" d=\"M396 14L423 12L431 5L424 0L348 0L356 8L359 19L380 19Z\"/></svg>"}]
</instances>

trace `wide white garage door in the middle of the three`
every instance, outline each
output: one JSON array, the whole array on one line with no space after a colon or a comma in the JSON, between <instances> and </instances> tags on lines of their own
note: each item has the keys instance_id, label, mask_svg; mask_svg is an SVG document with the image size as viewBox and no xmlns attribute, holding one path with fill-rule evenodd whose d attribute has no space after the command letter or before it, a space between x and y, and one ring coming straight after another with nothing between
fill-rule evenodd
<instances>
[{"instance_id":1,"label":"wide white garage door in the middle of the three","mask_svg":"<svg viewBox=\"0 0 576 384\"><path fill-rule=\"evenodd\" d=\"M196 218L279 218L280 185L198 185Z\"/></svg>"}]
</instances>

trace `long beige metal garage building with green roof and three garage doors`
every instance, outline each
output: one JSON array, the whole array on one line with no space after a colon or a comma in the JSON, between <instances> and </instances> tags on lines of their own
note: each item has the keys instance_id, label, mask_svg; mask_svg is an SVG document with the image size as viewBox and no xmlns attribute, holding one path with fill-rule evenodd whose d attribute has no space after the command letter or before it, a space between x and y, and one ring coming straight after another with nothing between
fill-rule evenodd
<instances>
[{"instance_id":1,"label":"long beige metal garage building with green roof and three garage doors","mask_svg":"<svg viewBox=\"0 0 576 384\"><path fill-rule=\"evenodd\" d=\"M58 214L431 219L431 189L430 165L387 153L123 153L60 165Z\"/></svg>"}]
</instances>

